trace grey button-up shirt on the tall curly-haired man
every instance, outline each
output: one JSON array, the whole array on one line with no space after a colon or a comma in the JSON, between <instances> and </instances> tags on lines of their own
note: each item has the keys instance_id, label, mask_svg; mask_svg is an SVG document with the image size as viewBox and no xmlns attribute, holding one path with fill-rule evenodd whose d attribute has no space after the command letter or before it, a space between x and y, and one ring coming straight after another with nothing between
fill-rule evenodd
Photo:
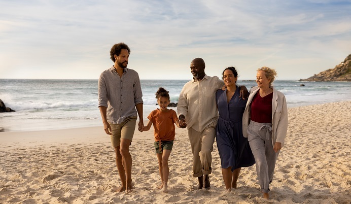
<instances>
[{"instance_id":1,"label":"grey button-up shirt on the tall curly-haired man","mask_svg":"<svg viewBox=\"0 0 351 204\"><path fill-rule=\"evenodd\" d=\"M122 77L114 66L103 71L98 84L98 106L107 107L107 120L120 124L126 118L137 116L135 105L143 103L139 75L125 68Z\"/></svg>"}]
</instances>

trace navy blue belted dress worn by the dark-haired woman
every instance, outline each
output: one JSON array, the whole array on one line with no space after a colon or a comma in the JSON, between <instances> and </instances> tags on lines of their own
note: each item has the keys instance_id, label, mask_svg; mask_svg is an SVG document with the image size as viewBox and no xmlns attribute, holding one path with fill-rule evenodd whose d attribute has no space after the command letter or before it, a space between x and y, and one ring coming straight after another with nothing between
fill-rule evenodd
<instances>
[{"instance_id":1,"label":"navy blue belted dress worn by the dark-haired woman","mask_svg":"<svg viewBox=\"0 0 351 204\"><path fill-rule=\"evenodd\" d=\"M227 90L216 92L219 112L216 142L222 168L231 166L231 171L255 164L248 139L242 135L242 114L248 99L243 100L239 95L240 89L236 87L228 104Z\"/></svg>"}]
</instances>

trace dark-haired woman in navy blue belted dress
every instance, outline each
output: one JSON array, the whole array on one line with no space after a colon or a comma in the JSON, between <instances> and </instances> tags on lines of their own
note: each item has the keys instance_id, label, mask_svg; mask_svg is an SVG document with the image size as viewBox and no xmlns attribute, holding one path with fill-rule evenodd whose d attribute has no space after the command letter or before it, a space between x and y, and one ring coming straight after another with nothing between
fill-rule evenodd
<instances>
[{"instance_id":1,"label":"dark-haired woman in navy blue belted dress","mask_svg":"<svg viewBox=\"0 0 351 204\"><path fill-rule=\"evenodd\" d=\"M222 74L226 89L216 92L219 112L216 141L228 192L236 188L241 167L255 164L248 139L242 135L242 114L248 99L240 97L240 89L236 86L237 76L235 67L227 67Z\"/></svg>"}]
</instances>

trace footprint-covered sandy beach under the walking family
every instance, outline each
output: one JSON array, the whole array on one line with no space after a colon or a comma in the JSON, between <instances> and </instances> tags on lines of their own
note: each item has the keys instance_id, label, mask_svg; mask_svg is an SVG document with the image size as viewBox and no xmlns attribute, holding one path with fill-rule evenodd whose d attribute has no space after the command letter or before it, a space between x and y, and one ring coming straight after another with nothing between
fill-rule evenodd
<instances>
[{"instance_id":1,"label":"footprint-covered sandy beach under the walking family","mask_svg":"<svg viewBox=\"0 0 351 204\"><path fill-rule=\"evenodd\" d=\"M119 177L102 127L0 132L0 203L351 203L351 101L289 109L270 199L261 198L255 165L225 192L217 145L211 189L196 190L186 129L177 128L169 192L159 193L153 131L135 132L134 191L115 192Z\"/></svg>"}]
</instances>

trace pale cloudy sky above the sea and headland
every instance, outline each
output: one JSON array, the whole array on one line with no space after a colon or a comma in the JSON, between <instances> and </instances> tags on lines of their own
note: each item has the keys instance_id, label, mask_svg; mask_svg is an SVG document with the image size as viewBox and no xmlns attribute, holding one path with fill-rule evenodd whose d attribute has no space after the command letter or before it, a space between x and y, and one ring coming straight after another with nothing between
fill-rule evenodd
<instances>
[{"instance_id":1,"label":"pale cloudy sky above the sea and headland","mask_svg":"<svg viewBox=\"0 0 351 204\"><path fill-rule=\"evenodd\" d=\"M306 79L351 54L351 1L0 0L0 79L98 79L120 42L141 79L190 80L196 57Z\"/></svg>"}]
</instances>

